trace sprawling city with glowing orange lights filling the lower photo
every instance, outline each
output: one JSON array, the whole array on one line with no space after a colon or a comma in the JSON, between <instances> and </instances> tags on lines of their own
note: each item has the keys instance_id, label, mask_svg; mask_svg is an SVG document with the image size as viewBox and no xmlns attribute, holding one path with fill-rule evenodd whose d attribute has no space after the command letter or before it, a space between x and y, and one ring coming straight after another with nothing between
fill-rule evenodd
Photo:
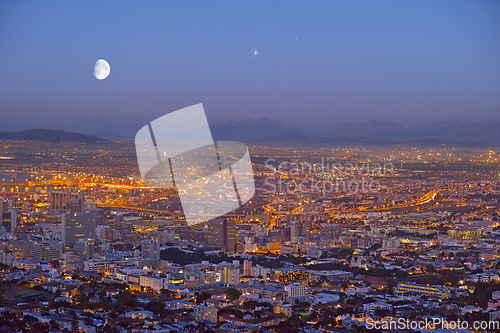
<instances>
[{"instance_id":1,"label":"sprawling city with glowing orange lights filling the lower photo","mask_svg":"<svg viewBox=\"0 0 500 333\"><path fill-rule=\"evenodd\" d=\"M174 190L141 184L129 143L3 142L4 327L499 322L498 148L251 146L254 197L188 226Z\"/></svg>"}]
</instances>

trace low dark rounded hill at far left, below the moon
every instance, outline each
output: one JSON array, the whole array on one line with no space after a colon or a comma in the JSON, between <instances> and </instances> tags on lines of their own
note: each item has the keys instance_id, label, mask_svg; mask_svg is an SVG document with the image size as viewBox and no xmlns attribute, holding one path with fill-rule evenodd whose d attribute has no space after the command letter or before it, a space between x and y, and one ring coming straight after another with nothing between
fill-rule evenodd
<instances>
[{"instance_id":1,"label":"low dark rounded hill at far left, below the moon","mask_svg":"<svg viewBox=\"0 0 500 333\"><path fill-rule=\"evenodd\" d=\"M75 132L54 131L48 129L29 129L20 132L4 132L0 133L0 140L25 140L25 141L42 141L51 143L62 142L82 142L82 143L99 143L106 142L101 138L92 135L85 135Z\"/></svg>"}]
</instances>

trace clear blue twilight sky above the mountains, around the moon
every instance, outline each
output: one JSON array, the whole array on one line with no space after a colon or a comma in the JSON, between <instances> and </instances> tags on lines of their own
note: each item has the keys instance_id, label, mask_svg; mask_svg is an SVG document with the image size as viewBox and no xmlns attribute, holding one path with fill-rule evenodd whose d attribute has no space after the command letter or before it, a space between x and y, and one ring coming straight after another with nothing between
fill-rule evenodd
<instances>
[{"instance_id":1,"label":"clear blue twilight sky above the mountains, around the moon","mask_svg":"<svg viewBox=\"0 0 500 333\"><path fill-rule=\"evenodd\" d=\"M3 0L0 121L199 102L212 121L500 121L499 17L495 0Z\"/></svg>"}]
</instances>

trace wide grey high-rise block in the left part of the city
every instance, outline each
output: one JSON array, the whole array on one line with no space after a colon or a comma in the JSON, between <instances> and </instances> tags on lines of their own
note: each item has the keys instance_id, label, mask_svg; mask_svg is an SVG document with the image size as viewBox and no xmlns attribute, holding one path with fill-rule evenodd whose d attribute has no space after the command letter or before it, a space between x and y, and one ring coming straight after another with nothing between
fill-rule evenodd
<instances>
[{"instance_id":1,"label":"wide grey high-rise block in the left part of the city","mask_svg":"<svg viewBox=\"0 0 500 333\"><path fill-rule=\"evenodd\" d=\"M71 249L78 239L95 239L96 212L69 213L61 215L61 235L64 248Z\"/></svg>"}]
</instances>

